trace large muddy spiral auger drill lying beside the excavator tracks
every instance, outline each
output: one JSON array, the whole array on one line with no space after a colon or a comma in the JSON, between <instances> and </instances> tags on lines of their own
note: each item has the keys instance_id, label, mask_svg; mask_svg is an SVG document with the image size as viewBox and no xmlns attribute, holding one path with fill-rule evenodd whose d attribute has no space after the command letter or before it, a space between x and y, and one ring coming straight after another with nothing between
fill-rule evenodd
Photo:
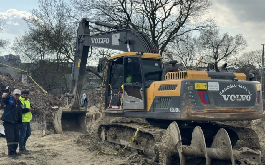
<instances>
[{"instance_id":1,"label":"large muddy spiral auger drill lying beside the excavator tracks","mask_svg":"<svg viewBox=\"0 0 265 165\"><path fill-rule=\"evenodd\" d=\"M211 148L206 147L205 138L201 127L197 126L192 132L191 144L182 145L180 129L176 122L171 123L161 136L159 149L159 164L170 164L170 158L178 154L180 164L185 164L189 156L205 157L206 164L211 164L212 159L231 160L236 162L248 161L250 164L261 164L261 151L254 151L247 147L233 150L228 133L221 128L214 137Z\"/></svg>"}]
</instances>

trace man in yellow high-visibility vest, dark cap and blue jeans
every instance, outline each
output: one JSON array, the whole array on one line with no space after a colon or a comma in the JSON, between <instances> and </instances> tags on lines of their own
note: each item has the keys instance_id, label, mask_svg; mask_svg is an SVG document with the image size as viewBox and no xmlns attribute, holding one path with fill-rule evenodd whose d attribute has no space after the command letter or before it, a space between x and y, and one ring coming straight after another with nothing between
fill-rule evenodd
<instances>
[{"instance_id":1,"label":"man in yellow high-visibility vest, dark cap and blue jeans","mask_svg":"<svg viewBox=\"0 0 265 165\"><path fill-rule=\"evenodd\" d=\"M23 90L19 100L22 103L22 124L19 125L19 153L30 154L29 150L26 149L26 142L31 134L30 121L32 118L31 112L37 108L31 106L29 103L29 91Z\"/></svg>"}]
</instances>

